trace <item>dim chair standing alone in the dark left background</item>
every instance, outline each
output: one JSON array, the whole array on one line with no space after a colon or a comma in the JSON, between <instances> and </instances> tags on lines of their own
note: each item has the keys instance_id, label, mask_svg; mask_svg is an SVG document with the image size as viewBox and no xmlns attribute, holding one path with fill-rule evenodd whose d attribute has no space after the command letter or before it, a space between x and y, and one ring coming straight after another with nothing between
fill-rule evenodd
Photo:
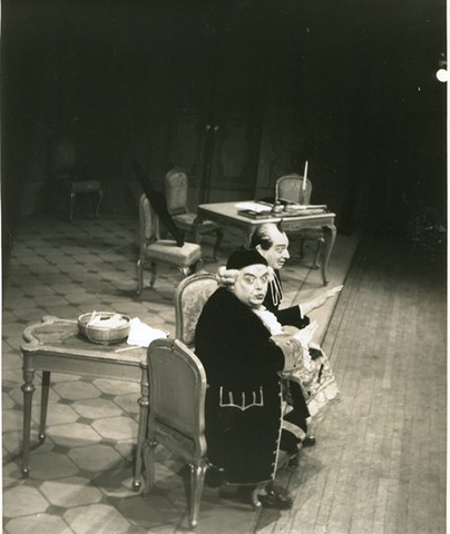
<instances>
[{"instance_id":1,"label":"dim chair standing alone in the dark left background","mask_svg":"<svg viewBox=\"0 0 450 534\"><path fill-rule=\"evenodd\" d=\"M53 144L51 165L55 190L61 191L69 200L69 220L74 220L76 200L80 195L92 197L94 211L99 217L104 198L101 184L78 161L77 147L72 140L61 138Z\"/></svg>"}]
</instances>

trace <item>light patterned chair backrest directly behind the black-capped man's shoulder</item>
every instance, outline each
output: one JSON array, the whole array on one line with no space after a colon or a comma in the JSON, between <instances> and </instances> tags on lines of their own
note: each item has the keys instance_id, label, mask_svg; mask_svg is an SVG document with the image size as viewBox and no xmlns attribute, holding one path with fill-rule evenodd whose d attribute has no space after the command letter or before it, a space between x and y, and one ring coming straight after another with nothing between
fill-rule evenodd
<instances>
[{"instance_id":1,"label":"light patterned chair backrest directly behind the black-capped man's shoulder","mask_svg":"<svg viewBox=\"0 0 450 534\"><path fill-rule=\"evenodd\" d=\"M217 287L215 275L203 271L184 278L175 290L175 336L190 348L195 345L198 317Z\"/></svg>"}]
</instances>

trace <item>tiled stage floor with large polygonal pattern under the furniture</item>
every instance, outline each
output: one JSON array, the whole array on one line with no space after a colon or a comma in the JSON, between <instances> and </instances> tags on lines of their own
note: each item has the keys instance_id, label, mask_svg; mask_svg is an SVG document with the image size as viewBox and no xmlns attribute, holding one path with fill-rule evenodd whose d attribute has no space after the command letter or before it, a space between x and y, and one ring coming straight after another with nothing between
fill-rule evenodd
<instances>
[{"instance_id":1,"label":"tiled stage floor with large polygonal pattern under the furniture","mask_svg":"<svg viewBox=\"0 0 450 534\"><path fill-rule=\"evenodd\" d=\"M341 238L344 239L345 238ZM23 328L45 315L77 318L86 312L117 310L175 333L173 307L178 273L162 269L154 289L136 295L137 218L50 218L22 222L3 287L2 445L3 528L25 533L173 533L187 528L182 464L158 451L157 491L131 490L137 434L137 383L52 374L46 442L38 446L40 388L33 396L29 478L21 478ZM205 240L204 268L216 271L241 236L226 231L221 259L212 259ZM331 285L341 283L354 244L333 255ZM313 251L284 269L286 301L323 290L319 271L310 270ZM332 307L320 312L323 332ZM39 379L37 380L39 384ZM281 479L286 474L281 474ZM197 532L254 532L258 515L221 501L205 488Z\"/></svg>"}]
</instances>

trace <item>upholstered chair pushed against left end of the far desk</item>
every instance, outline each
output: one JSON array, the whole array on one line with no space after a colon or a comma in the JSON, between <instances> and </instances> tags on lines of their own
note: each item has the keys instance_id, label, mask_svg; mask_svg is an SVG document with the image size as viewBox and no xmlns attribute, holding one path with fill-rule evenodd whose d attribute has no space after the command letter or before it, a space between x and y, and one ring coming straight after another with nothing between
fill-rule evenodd
<instances>
[{"instance_id":1,"label":"upholstered chair pushed against left end of the far desk","mask_svg":"<svg viewBox=\"0 0 450 534\"><path fill-rule=\"evenodd\" d=\"M186 234L195 237L202 237L205 234L215 234L216 243L214 245L214 260L217 260L218 247L221 246L224 233L221 225L212 220L204 220L195 228L194 221L197 215L187 208L187 176L182 169L169 170L165 176L165 192L167 199L167 209L172 215L175 225Z\"/></svg>"}]
</instances>

